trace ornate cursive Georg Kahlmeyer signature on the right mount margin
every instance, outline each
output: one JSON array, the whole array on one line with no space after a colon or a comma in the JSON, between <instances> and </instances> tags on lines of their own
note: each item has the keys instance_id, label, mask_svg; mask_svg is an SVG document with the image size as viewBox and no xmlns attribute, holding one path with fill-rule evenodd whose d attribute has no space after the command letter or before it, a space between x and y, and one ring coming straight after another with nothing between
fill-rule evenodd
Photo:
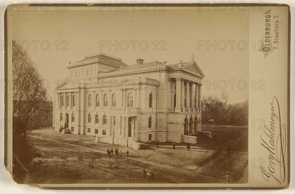
<instances>
[{"instance_id":1,"label":"ornate cursive Georg Kahlmeyer signature on the right mount margin","mask_svg":"<svg viewBox=\"0 0 295 194\"><path fill-rule=\"evenodd\" d=\"M286 127L281 123L281 113L278 99L272 98L270 126L265 125L264 136L260 136L261 145L268 152L268 165L260 166L262 175L266 181L273 178L278 184L285 181L286 166Z\"/></svg>"}]
</instances>

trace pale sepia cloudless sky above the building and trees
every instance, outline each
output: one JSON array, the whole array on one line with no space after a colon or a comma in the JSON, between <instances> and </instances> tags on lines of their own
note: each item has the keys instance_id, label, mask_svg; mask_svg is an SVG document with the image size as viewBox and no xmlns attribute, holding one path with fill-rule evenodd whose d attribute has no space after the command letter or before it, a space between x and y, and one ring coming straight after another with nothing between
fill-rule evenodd
<instances>
[{"instance_id":1,"label":"pale sepia cloudless sky above the building and trees","mask_svg":"<svg viewBox=\"0 0 295 194\"><path fill-rule=\"evenodd\" d=\"M13 11L12 39L26 48L50 83L50 96L69 76L68 62L100 50L128 65L137 58L174 64L190 61L194 54L205 75L202 95L221 97L226 92L229 103L247 100L251 87L248 11Z\"/></svg>"}]
</instances>

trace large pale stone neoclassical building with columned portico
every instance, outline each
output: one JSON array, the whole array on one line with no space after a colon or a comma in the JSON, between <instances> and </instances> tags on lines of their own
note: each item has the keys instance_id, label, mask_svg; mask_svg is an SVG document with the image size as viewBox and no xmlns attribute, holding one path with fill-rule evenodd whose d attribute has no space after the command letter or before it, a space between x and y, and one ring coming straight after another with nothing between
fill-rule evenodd
<instances>
[{"instance_id":1,"label":"large pale stone neoclassical building with columned portico","mask_svg":"<svg viewBox=\"0 0 295 194\"><path fill-rule=\"evenodd\" d=\"M131 142L197 142L201 131L201 80L189 62L127 65L103 53L67 66L69 76L55 89L54 127L123 145ZM65 125L66 124L66 125Z\"/></svg>"}]
</instances>

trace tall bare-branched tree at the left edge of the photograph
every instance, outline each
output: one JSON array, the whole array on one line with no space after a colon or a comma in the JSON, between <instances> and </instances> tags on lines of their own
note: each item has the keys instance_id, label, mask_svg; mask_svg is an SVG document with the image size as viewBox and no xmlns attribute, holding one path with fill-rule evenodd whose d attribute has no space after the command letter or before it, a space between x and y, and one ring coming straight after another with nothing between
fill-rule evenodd
<instances>
[{"instance_id":1,"label":"tall bare-branched tree at the left edge of the photograph","mask_svg":"<svg viewBox=\"0 0 295 194\"><path fill-rule=\"evenodd\" d=\"M13 162L17 166L13 168L13 176L28 177L28 165L21 161L32 159L29 133L36 128L52 126L53 103L48 100L47 89L27 52L17 45L12 52Z\"/></svg>"}]
</instances>

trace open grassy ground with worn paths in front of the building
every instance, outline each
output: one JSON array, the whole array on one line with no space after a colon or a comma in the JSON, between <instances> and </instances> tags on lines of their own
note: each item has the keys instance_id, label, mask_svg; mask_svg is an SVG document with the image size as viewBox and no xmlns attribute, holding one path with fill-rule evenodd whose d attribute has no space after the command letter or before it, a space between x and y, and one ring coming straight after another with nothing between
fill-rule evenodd
<instances>
[{"instance_id":1,"label":"open grassy ground with worn paths in front of the building","mask_svg":"<svg viewBox=\"0 0 295 194\"><path fill-rule=\"evenodd\" d=\"M228 171L233 177L231 183L248 180L247 151L227 154L224 149L128 148L127 158L126 147L94 140L53 129L32 131L29 142L35 158L29 167L29 183L227 183ZM115 147L124 155L107 158L106 150ZM82 160L78 160L79 152L83 153ZM93 167L89 166L92 159ZM144 178L144 168L154 172L153 180Z\"/></svg>"}]
</instances>

